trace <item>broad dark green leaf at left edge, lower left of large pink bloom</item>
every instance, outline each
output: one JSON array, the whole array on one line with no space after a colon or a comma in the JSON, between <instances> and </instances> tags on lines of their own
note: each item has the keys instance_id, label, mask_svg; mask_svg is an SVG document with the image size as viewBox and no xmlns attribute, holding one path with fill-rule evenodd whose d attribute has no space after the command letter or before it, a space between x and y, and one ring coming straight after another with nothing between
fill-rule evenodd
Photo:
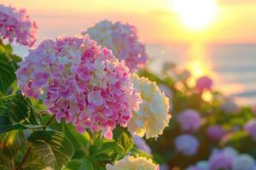
<instances>
[{"instance_id":1,"label":"broad dark green leaf at left edge, lower left of large pink bloom","mask_svg":"<svg viewBox=\"0 0 256 170\"><path fill-rule=\"evenodd\" d=\"M29 99L21 94L0 97L0 133L41 127Z\"/></svg>"}]
</instances>

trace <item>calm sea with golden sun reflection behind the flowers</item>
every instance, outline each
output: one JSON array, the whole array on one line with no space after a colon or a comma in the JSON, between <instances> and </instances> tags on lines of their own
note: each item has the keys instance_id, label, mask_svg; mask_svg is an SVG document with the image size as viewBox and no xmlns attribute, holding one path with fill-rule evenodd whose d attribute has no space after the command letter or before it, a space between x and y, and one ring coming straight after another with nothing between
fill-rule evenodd
<instances>
[{"instance_id":1,"label":"calm sea with golden sun reflection behind the flowers","mask_svg":"<svg viewBox=\"0 0 256 170\"><path fill-rule=\"evenodd\" d=\"M148 44L149 69L160 74L162 65L173 62L195 77L212 77L214 88L239 104L256 105L256 44ZM15 46L26 56L27 49Z\"/></svg>"}]
</instances>

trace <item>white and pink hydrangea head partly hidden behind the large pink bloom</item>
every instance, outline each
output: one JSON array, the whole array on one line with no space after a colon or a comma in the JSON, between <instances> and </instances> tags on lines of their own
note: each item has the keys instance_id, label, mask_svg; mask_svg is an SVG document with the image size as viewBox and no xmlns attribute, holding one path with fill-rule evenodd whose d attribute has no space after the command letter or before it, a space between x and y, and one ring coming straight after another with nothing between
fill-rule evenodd
<instances>
[{"instance_id":1,"label":"white and pink hydrangea head partly hidden behind the large pink bloom","mask_svg":"<svg viewBox=\"0 0 256 170\"><path fill-rule=\"evenodd\" d=\"M145 46L138 41L135 26L102 20L82 34L89 34L102 47L107 47L119 60L125 60L130 71L137 71L148 61Z\"/></svg>"}]
</instances>

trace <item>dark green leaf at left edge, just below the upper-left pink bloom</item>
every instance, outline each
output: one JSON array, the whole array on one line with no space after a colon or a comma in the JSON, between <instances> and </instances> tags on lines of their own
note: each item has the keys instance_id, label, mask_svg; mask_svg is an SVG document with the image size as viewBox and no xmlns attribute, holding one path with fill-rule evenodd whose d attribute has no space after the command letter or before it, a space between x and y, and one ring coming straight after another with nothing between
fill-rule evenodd
<instances>
[{"instance_id":1,"label":"dark green leaf at left edge, just below the upper-left pink bloom","mask_svg":"<svg viewBox=\"0 0 256 170\"><path fill-rule=\"evenodd\" d=\"M12 59L4 53L0 54L0 91L3 94L7 94L9 87L15 82L16 68L17 65Z\"/></svg>"}]
</instances>

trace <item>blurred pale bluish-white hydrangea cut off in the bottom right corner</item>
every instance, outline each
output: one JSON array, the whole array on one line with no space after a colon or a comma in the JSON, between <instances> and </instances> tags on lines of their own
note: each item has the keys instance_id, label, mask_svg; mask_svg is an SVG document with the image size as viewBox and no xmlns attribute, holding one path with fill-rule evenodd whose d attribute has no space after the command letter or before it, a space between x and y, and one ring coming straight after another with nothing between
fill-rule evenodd
<instances>
[{"instance_id":1,"label":"blurred pale bluish-white hydrangea cut off in the bottom right corner","mask_svg":"<svg viewBox=\"0 0 256 170\"><path fill-rule=\"evenodd\" d=\"M253 156L241 154L232 164L232 170L256 170Z\"/></svg>"}]
</instances>

